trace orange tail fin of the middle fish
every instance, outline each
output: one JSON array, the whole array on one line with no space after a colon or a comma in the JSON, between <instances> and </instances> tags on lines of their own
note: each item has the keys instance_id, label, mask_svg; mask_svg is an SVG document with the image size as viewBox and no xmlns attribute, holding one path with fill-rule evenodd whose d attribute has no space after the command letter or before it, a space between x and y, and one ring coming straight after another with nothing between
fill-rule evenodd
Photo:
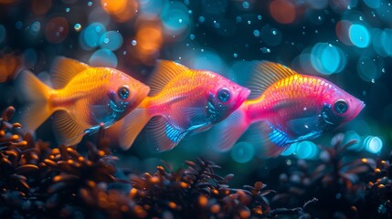
<instances>
[{"instance_id":1,"label":"orange tail fin of the middle fish","mask_svg":"<svg viewBox=\"0 0 392 219\"><path fill-rule=\"evenodd\" d=\"M122 119L122 130L119 138L120 146L123 150L131 148L133 141L150 119L151 116L142 107L132 110L131 113Z\"/></svg>"}]
</instances>

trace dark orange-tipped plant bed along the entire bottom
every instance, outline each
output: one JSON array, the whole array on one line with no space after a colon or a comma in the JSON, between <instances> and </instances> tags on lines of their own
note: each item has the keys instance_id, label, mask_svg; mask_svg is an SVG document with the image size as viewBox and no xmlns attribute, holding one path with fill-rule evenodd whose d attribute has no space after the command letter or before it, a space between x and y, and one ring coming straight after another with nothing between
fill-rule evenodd
<instances>
[{"instance_id":1,"label":"dark orange-tipped plant bed along the entire bottom","mask_svg":"<svg viewBox=\"0 0 392 219\"><path fill-rule=\"evenodd\" d=\"M345 159L343 135L323 148L315 168L296 162L281 173L278 193L256 182L230 188L216 163L196 159L174 170L168 163L141 175L119 170L103 128L97 142L49 147L0 119L1 218L388 218L392 211L390 161ZM364 180L365 179L365 180ZM366 182L366 183L364 183ZM301 207L299 203L304 203Z\"/></svg>"}]
</instances>

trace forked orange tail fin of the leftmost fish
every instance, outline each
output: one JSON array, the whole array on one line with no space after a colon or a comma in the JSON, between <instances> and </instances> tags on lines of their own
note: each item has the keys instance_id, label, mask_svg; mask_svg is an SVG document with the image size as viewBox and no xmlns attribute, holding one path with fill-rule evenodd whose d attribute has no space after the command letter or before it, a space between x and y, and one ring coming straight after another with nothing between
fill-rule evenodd
<instances>
[{"instance_id":1,"label":"forked orange tail fin of the leftmost fish","mask_svg":"<svg viewBox=\"0 0 392 219\"><path fill-rule=\"evenodd\" d=\"M22 72L16 86L27 102L26 108L16 119L23 124L25 130L37 130L52 113L48 104L52 89L27 70Z\"/></svg>"}]
</instances>

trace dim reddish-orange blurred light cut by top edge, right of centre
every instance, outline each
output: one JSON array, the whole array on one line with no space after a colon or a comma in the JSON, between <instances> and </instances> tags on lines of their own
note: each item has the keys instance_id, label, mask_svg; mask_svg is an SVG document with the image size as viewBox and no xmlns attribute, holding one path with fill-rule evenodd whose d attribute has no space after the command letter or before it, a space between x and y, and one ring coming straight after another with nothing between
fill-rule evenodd
<instances>
[{"instance_id":1,"label":"dim reddish-orange blurred light cut by top edge, right of centre","mask_svg":"<svg viewBox=\"0 0 392 219\"><path fill-rule=\"evenodd\" d=\"M270 3L270 16L281 24L291 24L295 20L295 5L287 0L274 0Z\"/></svg>"}]
</instances>

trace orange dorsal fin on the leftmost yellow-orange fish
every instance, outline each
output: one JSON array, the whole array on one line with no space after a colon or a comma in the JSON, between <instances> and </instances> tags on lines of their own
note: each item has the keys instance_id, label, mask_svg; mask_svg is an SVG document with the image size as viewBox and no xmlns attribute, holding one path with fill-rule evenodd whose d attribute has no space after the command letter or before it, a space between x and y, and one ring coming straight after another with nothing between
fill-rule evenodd
<instances>
[{"instance_id":1,"label":"orange dorsal fin on the leftmost yellow-orange fish","mask_svg":"<svg viewBox=\"0 0 392 219\"><path fill-rule=\"evenodd\" d=\"M56 57L50 69L54 89L64 88L70 79L83 70L90 68L87 64L68 57Z\"/></svg>"}]
</instances>

